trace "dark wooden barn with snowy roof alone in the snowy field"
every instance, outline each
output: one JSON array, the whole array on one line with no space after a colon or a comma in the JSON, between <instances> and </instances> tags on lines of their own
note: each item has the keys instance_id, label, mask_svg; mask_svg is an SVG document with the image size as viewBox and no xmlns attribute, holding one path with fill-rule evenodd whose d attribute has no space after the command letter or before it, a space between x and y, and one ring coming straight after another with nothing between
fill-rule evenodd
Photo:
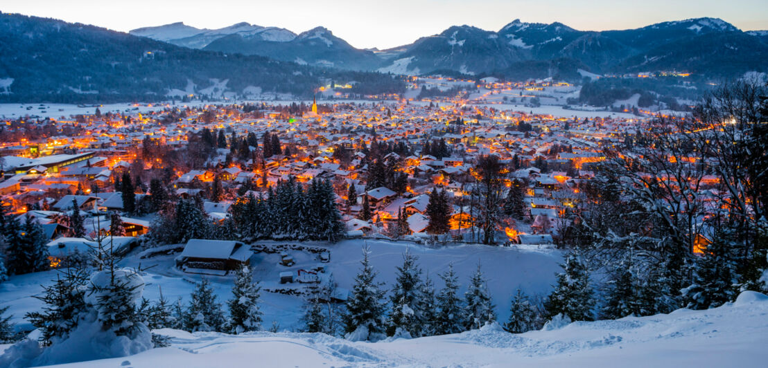
<instances>
[{"instance_id":1,"label":"dark wooden barn with snowy roof alone in the snowy field","mask_svg":"<svg viewBox=\"0 0 768 368\"><path fill-rule=\"evenodd\" d=\"M240 241L190 239L176 265L190 274L225 275L250 264L253 251Z\"/></svg>"}]
</instances>

